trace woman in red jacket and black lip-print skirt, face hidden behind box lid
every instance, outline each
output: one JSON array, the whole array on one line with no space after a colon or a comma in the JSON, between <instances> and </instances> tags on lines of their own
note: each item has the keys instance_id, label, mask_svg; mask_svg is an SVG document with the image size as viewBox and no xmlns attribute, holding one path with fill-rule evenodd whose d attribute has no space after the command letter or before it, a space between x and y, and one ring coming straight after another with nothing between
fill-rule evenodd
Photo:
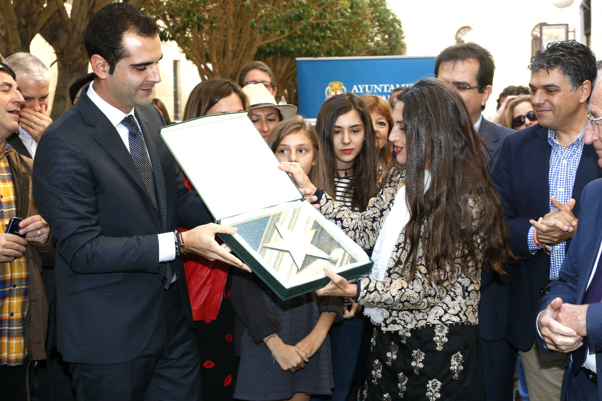
<instances>
[{"instance_id":1,"label":"woman in red jacket and black lip-print skirt, face hidden behind box lid","mask_svg":"<svg viewBox=\"0 0 602 401\"><path fill-rule=\"evenodd\" d=\"M211 78L191 91L184 120L248 108L247 97L237 84ZM184 181L193 191L187 177ZM233 342L234 310L229 300L228 265L189 254L184 266L200 352L202 399L231 400L238 358Z\"/></svg>"}]
</instances>

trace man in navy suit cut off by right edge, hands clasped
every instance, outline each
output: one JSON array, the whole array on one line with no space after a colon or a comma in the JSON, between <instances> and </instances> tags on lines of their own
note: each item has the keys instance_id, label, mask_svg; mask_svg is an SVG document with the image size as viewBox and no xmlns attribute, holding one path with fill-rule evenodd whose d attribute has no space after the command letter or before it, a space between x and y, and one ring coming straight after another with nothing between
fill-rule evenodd
<instances>
[{"instance_id":1,"label":"man in navy suit cut off by right edge, hands clasped","mask_svg":"<svg viewBox=\"0 0 602 401\"><path fill-rule=\"evenodd\" d=\"M589 100L585 143L593 143L602 164L602 85L600 76ZM602 180L589 183L581 195L579 231L566 253L559 280L539 302L539 346L542 353L571 354L562 381L562 400L602 400ZM543 336L543 337L542 337ZM586 343L584 345L584 343ZM600 357L600 359L598 359Z\"/></svg>"}]
</instances>

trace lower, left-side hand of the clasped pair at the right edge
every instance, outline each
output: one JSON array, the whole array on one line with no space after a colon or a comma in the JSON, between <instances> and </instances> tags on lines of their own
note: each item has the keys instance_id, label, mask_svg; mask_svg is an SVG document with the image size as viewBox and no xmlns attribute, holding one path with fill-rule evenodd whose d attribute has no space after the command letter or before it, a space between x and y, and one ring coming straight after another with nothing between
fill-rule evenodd
<instances>
[{"instance_id":1,"label":"lower, left-side hand of the clasped pair at the right edge","mask_svg":"<svg viewBox=\"0 0 602 401\"><path fill-rule=\"evenodd\" d=\"M561 298L554 298L539 314L537 325L548 349L568 353L582 346L583 337L557 320L562 305Z\"/></svg>"}]
</instances>

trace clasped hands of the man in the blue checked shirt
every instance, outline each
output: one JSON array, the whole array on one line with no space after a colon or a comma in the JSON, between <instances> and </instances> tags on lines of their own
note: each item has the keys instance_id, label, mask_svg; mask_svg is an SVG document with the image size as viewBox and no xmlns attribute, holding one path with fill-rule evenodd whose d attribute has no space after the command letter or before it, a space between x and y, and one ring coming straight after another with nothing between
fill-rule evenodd
<instances>
[{"instance_id":1,"label":"clasped hands of the man in the blue checked shirt","mask_svg":"<svg viewBox=\"0 0 602 401\"><path fill-rule=\"evenodd\" d=\"M566 204L560 203L556 198L551 198L552 206L557 210L550 210L543 218L538 221L530 220L529 222L537 230L537 238L539 242L548 245L573 238L577 230L577 218L573 214L573 207L576 201L571 198Z\"/></svg>"}]
</instances>

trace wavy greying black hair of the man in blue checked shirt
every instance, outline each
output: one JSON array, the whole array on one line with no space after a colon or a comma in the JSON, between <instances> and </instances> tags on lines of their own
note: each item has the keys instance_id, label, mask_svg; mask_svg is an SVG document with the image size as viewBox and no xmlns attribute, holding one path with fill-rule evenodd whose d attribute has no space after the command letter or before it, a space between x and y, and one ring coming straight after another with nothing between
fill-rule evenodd
<instances>
[{"instance_id":1,"label":"wavy greying black hair of the man in blue checked shirt","mask_svg":"<svg viewBox=\"0 0 602 401\"><path fill-rule=\"evenodd\" d=\"M531 58L529 70L536 72L544 69L547 72L559 68L571 90L576 90L584 81L594 84L598 71L596 57L585 44L576 40L555 41L544 50L538 50ZM588 98L589 99L589 98Z\"/></svg>"}]
</instances>

